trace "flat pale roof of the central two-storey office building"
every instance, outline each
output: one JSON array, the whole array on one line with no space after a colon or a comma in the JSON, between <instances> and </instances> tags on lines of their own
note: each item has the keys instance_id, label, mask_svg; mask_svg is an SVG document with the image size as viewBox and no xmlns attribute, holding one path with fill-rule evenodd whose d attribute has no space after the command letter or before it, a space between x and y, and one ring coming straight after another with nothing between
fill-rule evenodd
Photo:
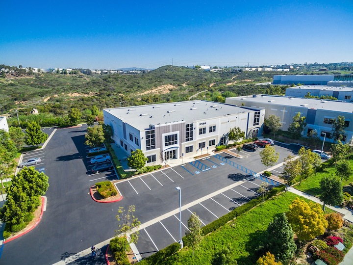
<instances>
[{"instance_id":1,"label":"flat pale roof of the central two-storey office building","mask_svg":"<svg viewBox=\"0 0 353 265\"><path fill-rule=\"evenodd\" d=\"M212 101L184 101L144 106L105 108L105 111L140 130L158 125L185 121L192 123L254 110Z\"/></svg>"}]
</instances>

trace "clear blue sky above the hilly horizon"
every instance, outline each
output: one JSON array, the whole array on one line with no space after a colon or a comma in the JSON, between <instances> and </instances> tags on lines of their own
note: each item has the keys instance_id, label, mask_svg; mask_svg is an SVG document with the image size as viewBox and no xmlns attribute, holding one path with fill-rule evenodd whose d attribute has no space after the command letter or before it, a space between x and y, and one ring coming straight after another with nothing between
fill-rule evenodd
<instances>
[{"instance_id":1,"label":"clear blue sky above the hilly horizon","mask_svg":"<svg viewBox=\"0 0 353 265\"><path fill-rule=\"evenodd\" d=\"M353 61L353 0L7 0L0 17L0 64L6 65Z\"/></svg>"}]
</instances>

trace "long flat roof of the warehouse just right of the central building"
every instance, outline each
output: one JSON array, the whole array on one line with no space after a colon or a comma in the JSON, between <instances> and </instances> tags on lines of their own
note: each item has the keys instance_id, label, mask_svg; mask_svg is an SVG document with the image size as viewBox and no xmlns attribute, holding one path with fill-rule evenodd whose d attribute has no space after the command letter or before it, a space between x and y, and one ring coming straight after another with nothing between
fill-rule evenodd
<instances>
[{"instance_id":1,"label":"long flat roof of the warehouse just right of the central building","mask_svg":"<svg viewBox=\"0 0 353 265\"><path fill-rule=\"evenodd\" d=\"M340 112L353 112L353 103L343 102L337 100L322 100L322 99L307 99L307 98L294 98L287 96L272 96L272 95L256 95L256 97L251 96L242 96L242 97L232 97L227 98L238 99L244 102L253 103L253 107L256 106L256 103L265 103L268 105L282 105L282 106L298 106L314 109L325 109L331 111L340 111ZM227 102L226 99L226 102ZM258 105L257 105L258 107Z\"/></svg>"}]
</instances>

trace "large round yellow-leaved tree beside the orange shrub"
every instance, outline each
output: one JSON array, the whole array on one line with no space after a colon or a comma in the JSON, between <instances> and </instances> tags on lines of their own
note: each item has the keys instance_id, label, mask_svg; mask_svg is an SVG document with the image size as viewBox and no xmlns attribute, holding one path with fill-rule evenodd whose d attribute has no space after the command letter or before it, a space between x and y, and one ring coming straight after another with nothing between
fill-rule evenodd
<instances>
[{"instance_id":1,"label":"large round yellow-leaved tree beside the orange shrub","mask_svg":"<svg viewBox=\"0 0 353 265\"><path fill-rule=\"evenodd\" d=\"M286 215L299 240L311 240L323 235L328 227L320 205L311 201L306 203L296 198Z\"/></svg>"}]
</instances>

